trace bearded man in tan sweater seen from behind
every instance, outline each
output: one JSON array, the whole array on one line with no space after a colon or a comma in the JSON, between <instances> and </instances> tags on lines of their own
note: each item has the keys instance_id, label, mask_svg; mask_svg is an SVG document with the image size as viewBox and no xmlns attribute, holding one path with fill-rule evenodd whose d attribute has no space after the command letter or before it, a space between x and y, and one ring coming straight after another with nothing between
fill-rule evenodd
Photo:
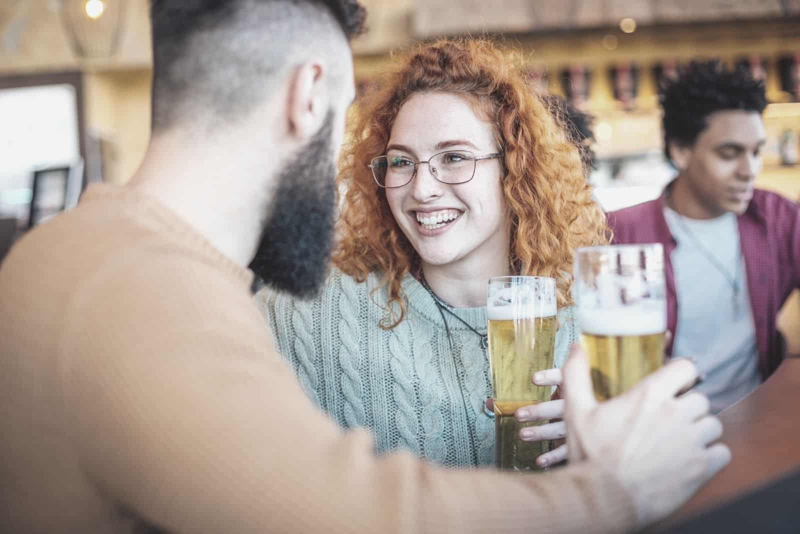
<instances>
[{"instance_id":1,"label":"bearded man in tan sweater seen from behind","mask_svg":"<svg viewBox=\"0 0 800 534\"><path fill-rule=\"evenodd\" d=\"M579 352L573 464L549 476L376 457L368 432L342 432L250 288L256 273L310 296L325 278L363 10L155 0L151 16L142 165L0 269L0 532L622 532L730 459L705 397L677 396L690 362L598 404Z\"/></svg>"}]
</instances>

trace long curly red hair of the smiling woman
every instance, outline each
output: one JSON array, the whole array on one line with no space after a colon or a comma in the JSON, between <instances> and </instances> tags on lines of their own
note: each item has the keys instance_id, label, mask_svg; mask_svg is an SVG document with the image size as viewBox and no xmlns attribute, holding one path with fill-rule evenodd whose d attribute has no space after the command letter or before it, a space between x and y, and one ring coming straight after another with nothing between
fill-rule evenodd
<instances>
[{"instance_id":1,"label":"long curly red hair of the smiling woman","mask_svg":"<svg viewBox=\"0 0 800 534\"><path fill-rule=\"evenodd\" d=\"M381 325L405 316L401 282L418 275L419 257L394 220L385 189L367 164L386 153L392 125L410 97L456 94L495 126L504 154L503 191L511 216L510 272L554 277L558 305L568 305L575 249L606 244L606 217L592 199L588 169L545 102L502 50L486 39L420 44L395 61L378 89L359 102L350 122L338 180L346 189L334 265L366 280L382 274L390 301Z\"/></svg>"}]
</instances>

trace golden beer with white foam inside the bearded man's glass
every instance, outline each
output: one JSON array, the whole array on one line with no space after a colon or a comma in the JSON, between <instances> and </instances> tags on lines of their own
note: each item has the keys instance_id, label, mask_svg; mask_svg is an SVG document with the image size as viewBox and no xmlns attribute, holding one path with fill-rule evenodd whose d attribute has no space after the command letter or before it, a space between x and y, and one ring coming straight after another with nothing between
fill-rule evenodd
<instances>
[{"instance_id":1,"label":"golden beer with white foam inside the bearded man's glass","mask_svg":"<svg viewBox=\"0 0 800 534\"><path fill-rule=\"evenodd\" d=\"M662 310L636 306L624 313L582 310L581 343L598 401L625 393L662 366L665 315Z\"/></svg>"}]
</instances>

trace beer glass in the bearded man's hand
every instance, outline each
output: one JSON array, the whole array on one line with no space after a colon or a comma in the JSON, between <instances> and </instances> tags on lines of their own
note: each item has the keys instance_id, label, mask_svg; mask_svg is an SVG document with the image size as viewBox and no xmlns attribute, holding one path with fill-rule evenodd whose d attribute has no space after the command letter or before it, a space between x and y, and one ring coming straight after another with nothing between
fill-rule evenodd
<instances>
[{"instance_id":1,"label":"beer glass in the bearded man's hand","mask_svg":"<svg viewBox=\"0 0 800 534\"><path fill-rule=\"evenodd\" d=\"M578 249L573 296L598 401L625 392L661 367L666 334L662 245Z\"/></svg>"}]
</instances>

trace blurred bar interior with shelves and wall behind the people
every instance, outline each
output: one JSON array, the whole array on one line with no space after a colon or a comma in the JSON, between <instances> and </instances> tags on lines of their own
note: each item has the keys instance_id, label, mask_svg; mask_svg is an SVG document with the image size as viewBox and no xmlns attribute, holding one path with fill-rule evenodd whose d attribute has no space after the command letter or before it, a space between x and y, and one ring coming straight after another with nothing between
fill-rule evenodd
<instances>
[{"instance_id":1,"label":"blurred bar interior with shelves and wall behind the people","mask_svg":"<svg viewBox=\"0 0 800 534\"><path fill-rule=\"evenodd\" d=\"M674 174L662 156L659 77L694 58L742 64L765 79L772 102L758 185L800 200L800 0L363 3L370 17L354 42L359 92L393 50L446 35L502 35L522 53L531 86L597 118L591 181L607 209L658 195ZM30 225L34 174L50 191L45 208L49 201L58 211L72 202L62 181L80 189L134 173L150 130L147 9L147 0L0 0L0 217L17 217L20 231ZM47 169L66 169L64 178ZM800 352L800 312L787 313Z\"/></svg>"}]
</instances>

